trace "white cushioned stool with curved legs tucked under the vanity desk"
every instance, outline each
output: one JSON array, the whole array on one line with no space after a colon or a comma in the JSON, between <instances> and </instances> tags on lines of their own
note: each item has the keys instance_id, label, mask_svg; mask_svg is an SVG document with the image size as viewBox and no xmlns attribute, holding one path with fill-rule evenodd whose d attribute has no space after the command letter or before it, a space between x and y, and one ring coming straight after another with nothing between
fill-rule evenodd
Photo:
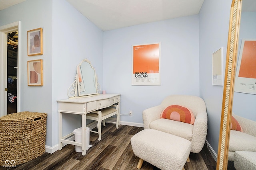
<instances>
[{"instance_id":1,"label":"white cushioned stool with curved legs tucked under the vanity desk","mask_svg":"<svg viewBox=\"0 0 256 170\"><path fill-rule=\"evenodd\" d=\"M106 126L105 120L107 118L113 116L113 115L116 115L116 129L118 129L118 123L119 123L119 119L120 119L118 104L114 104L110 107L100 109L100 110L96 110L96 111L93 111L91 113L86 114L86 119L98 121L98 123L97 123L98 132L97 131L92 131L92 130L90 130L90 132L98 133L99 134L99 138L98 138L99 141L101 140L101 123L103 123L103 126Z\"/></svg>"}]
</instances>

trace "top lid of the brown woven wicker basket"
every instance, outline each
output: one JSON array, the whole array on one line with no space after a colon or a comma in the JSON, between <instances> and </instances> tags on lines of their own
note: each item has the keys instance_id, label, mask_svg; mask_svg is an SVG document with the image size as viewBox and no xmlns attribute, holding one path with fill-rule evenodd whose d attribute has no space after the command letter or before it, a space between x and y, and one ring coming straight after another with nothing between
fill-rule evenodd
<instances>
[{"instance_id":1,"label":"top lid of the brown woven wicker basket","mask_svg":"<svg viewBox=\"0 0 256 170\"><path fill-rule=\"evenodd\" d=\"M46 115L46 113L23 111L23 112L12 113L12 114L2 116L0 117L0 121L24 120L24 119L31 119L34 117L40 117L42 115Z\"/></svg>"}]
</instances>

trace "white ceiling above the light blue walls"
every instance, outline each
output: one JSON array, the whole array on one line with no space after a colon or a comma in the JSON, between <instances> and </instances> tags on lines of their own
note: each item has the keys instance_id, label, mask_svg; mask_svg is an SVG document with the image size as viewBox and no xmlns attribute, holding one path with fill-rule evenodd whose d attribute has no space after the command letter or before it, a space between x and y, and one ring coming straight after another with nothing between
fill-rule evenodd
<instances>
[{"instance_id":1,"label":"white ceiling above the light blue walls","mask_svg":"<svg viewBox=\"0 0 256 170\"><path fill-rule=\"evenodd\" d=\"M0 10L25 0L0 0ZM204 0L66 0L102 31L198 14ZM249 1L249 0L246 0ZM255 0L250 0L255 4ZM244 5L242 7L245 7ZM250 5L254 8L254 5Z\"/></svg>"}]
</instances>

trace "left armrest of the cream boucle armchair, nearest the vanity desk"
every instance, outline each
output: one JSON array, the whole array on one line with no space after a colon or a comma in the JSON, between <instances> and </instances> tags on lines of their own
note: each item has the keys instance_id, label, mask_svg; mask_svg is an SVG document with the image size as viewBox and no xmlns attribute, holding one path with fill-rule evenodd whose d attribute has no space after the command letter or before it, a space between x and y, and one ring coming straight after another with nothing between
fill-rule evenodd
<instances>
[{"instance_id":1,"label":"left armrest of the cream boucle armchair, nearest the vanity desk","mask_svg":"<svg viewBox=\"0 0 256 170\"><path fill-rule=\"evenodd\" d=\"M160 119L160 114L163 109L164 109L164 106L158 105L142 111L144 129L149 129L150 122L156 119Z\"/></svg>"}]
</instances>

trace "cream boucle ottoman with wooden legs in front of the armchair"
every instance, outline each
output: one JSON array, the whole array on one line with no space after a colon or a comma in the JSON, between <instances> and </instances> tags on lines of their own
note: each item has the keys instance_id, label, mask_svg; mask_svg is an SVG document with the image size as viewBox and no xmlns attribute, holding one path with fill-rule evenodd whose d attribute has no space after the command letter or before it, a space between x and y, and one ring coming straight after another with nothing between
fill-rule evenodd
<instances>
[{"instance_id":1,"label":"cream boucle ottoman with wooden legs in front of the armchair","mask_svg":"<svg viewBox=\"0 0 256 170\"><path fill-rule=\"evenodd\" d=\"M182 170L191 150L191 142L155 129L144 129L131 138L132 150L143 160L162 170Z\"/></svg>"}]
</instances>

